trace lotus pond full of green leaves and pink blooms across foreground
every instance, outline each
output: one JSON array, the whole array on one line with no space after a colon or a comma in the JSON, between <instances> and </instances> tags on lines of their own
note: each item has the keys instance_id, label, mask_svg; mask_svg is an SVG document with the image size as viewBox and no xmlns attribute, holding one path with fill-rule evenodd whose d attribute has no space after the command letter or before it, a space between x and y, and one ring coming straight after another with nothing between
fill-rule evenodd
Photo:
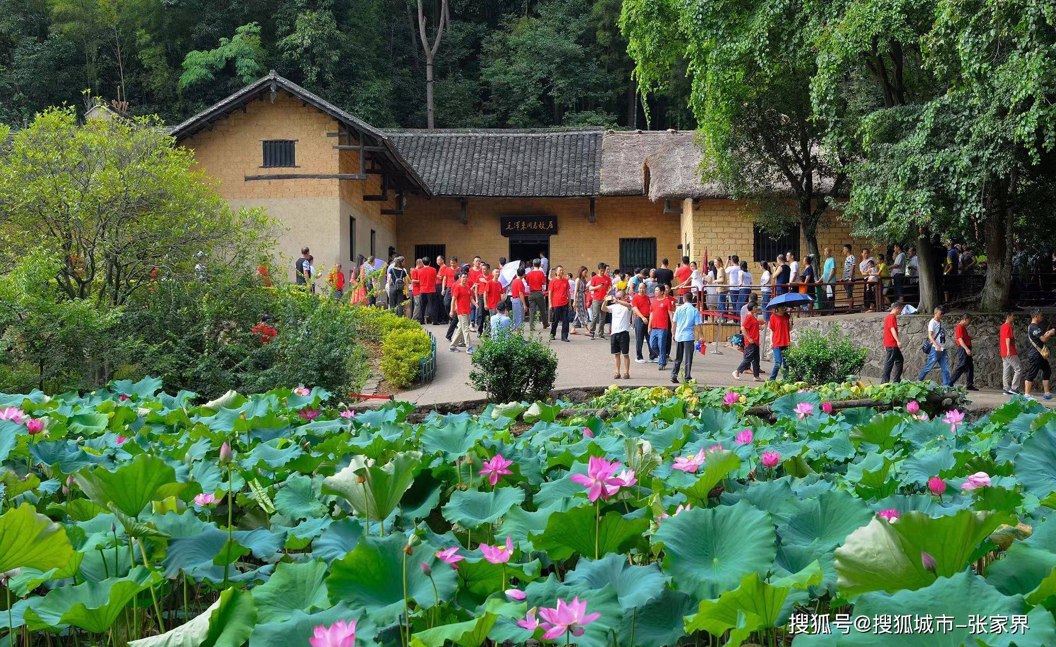
<instances>
[{"instance_id":1,"label":"lotus pond full of green leaves and pink blooms across foreground","mask_svg":"<svg viewBox=\"0 0 1056 647\"><path fill-rule=\"evenodd\" d=\"M1056 414L0 395L4 645L1056 644ZM704 405L704 403L715 403ZM832 412L832 413L830 413Z\"/></svg>"}]
</instances>

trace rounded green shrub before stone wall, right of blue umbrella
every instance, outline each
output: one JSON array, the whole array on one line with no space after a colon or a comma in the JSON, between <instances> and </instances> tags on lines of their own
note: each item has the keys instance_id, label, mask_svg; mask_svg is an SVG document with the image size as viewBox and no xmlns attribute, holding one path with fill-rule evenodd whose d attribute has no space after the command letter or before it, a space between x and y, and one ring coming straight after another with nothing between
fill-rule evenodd
<instances>
[{"instance_id":1,"label":"rounded green shrub before stone wall, right of blue umbrella","mask_svg":"<svg viewBox=\"0 0 1056 647\"><path fill-rule=\"evenodd\" d=\"M803 330L785 351L785 379L808 384L844 382L865 366L869 351L859 348L840 326L823 335L816 328Z\"/></svg>"}]
</instances>

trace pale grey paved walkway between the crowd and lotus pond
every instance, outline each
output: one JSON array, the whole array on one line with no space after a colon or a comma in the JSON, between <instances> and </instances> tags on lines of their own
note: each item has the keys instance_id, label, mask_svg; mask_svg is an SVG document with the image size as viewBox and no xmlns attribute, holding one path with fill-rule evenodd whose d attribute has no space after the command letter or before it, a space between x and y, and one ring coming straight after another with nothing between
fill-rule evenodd
<instances>
[{"instance_id":1,"label":"pale grey paved walkway between the crowd and lotus pond","mask_svg":"<svg viewBox=\"0 0 1056 647\"><path fill-rule=\"evenodd\" d=\"M482 397L482 394L469 385L470 358L465 348L461 353L448 350L444 339L446 326L430 326L426 328L437 336L436 344L436 377L426 386L406 391L396 396L418 405L431 405L445 402L458 402ZM474 341L476 335L473 335ZM544 337L544 340L547 339ZM667 370L660 372L656 364L638 364L635 362L635 339L630 340L630 379L614 380L616 373L612 356L609 354L608 339L591 340L585 335L571 335L569 342L560 340L551 342L550 346L558 353L558 381L554 388L577 388L587 386L609 386L619 384L623 387L637 386L674 386L671 382L673 361L668 361ZM740 363L740 353L736 348L719 348L721 355L714 351L715 344L709 344L708 354L694 355L693 377L697 383L711 386L729 386L733 384L752 384L751 374L744 376L742 382L733 379L731 372ZM643 346L643 355L645 354ZM761 377L770 375L772 362L761 362ZM680 372L681 373L681 372ZM879 380L874 380L878 381ZM1007 401L1007 396L999 391L979 391L972 394L973 408L993 410ZM1040 401L1040 400L1039 400ZM1052 406L1056 400L1044 402Z\"/></svg>"}]
</instances>

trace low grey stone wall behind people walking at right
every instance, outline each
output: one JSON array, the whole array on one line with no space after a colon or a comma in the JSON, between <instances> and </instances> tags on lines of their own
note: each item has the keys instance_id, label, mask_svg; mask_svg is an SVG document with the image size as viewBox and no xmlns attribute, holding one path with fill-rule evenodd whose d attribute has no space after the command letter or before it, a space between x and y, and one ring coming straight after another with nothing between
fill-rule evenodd
<instances>
[{"instance_id":1,"label":"low grey stone wall behind people walking at right","mask_svg":"<svg viewBox=\"0 0 1056 647\"><path fill-rule=\"evenodd\" d=\"M849 335L855 344L869 349L869 358L862 369L862 376L882 378L884 375L884 317L886 312L866 312L861 315L837 315L833 317L803 317L795 320L792 329L792 340L796 334L806 328L828 330L838 325L842 332ZM899 332L902 336L902 354L906 362L903 379L916 380L927 357L921 351L921 342L927 339L927 322L930 316L904 315L899 318ZM961 312L951 312L943 317L946 326L949 353L949 370L953 373L959 363L958 353L954 350L954 326L961 319ZM976 386L980 388L1001 388L1001 356L999 355L999 329L1004 323L1003 315L972 313L968 335L973 342L973 357L976 363ZM1024 313L1016 317L1013 327L1016 332L1016 347L1024 353L1026 344L1026 325L1030 318ZM1025 366L1024 366L1025 369ZM942 376L935 368L928 378L939 382ZM960 384L964 384L961 378Z\"/></svg>"}]
</instances>

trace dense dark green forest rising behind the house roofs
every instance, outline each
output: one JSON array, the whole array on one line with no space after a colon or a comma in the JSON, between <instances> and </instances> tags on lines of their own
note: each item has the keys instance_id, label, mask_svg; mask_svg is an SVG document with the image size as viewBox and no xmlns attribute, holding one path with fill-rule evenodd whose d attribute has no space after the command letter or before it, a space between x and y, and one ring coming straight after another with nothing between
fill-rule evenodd
<instances>
[{"instance_id":1,"label":"dense dark green forest rising behind the house roofs","mask_svg":"<svg viewBox=\"0 0 1056 647\"><path fill-rule=\"evenodd\" d=\"M452 0L436 126L695 128L684 66L643 106L621 4ZM442 5L422 8L432 39ZM417 14L408 0L0 0L0 122L120 89L129 113L174 123L274 69L374 126L423 128Z\"/></svg>"}]
</instances>

